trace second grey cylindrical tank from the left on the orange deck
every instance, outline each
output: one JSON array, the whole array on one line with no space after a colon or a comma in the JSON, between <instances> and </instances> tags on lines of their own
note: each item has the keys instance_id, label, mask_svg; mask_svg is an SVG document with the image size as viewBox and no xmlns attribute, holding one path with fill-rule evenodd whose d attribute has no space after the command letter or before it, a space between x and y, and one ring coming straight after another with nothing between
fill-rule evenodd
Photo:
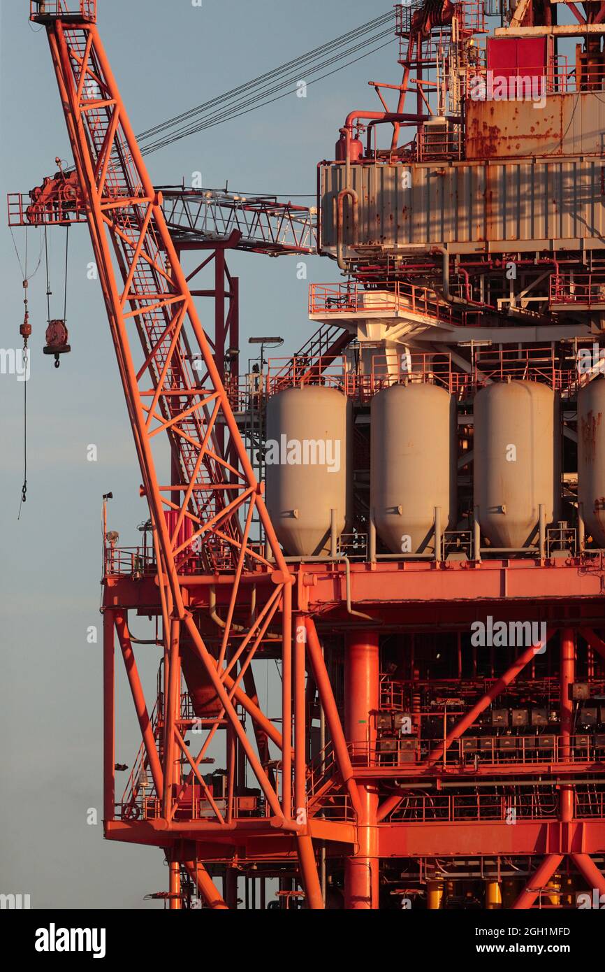
<instances>
[{"instance_id":1,"label":"second grey cylindrical tank from the left on the orange deck","mask_svg":"<svg viewBox=\"0 0 605 972\"><path fill-rule=\"evenodd\" d=\"M392 553L434 553L456 514L455 402L437 385L391 385L372 399L370 504Z\"/></svg>"}]
</instances>

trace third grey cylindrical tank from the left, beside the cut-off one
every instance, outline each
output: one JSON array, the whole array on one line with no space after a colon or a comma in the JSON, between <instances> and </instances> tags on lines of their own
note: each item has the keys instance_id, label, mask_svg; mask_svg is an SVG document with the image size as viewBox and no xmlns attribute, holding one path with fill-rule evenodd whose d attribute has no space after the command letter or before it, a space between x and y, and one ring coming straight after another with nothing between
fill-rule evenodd
<instances>
[{"instance_id":1,"label":"third grey cylindrical tank from the left, beside the cut-off one","mask_svg":"<svg viewBox=\"0 0 605 972\"><path fill-rule=\"evenodd\" d=\"M560 429L553 389L535 381L487 385L475 397L474 504L494 547L536 542L559 517Z\"/></svg>"}]
</instances>

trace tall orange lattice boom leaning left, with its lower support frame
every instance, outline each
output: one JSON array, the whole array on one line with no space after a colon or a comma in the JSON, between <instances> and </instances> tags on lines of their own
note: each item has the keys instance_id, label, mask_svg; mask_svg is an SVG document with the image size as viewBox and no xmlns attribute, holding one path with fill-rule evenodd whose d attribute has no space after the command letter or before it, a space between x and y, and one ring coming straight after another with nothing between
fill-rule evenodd
<instances>
[{"instance_id":1,"label":"tall orange lattice boom leaning left, with its lower support frame","mask_svg":"<svg viewBox=\"0 0 605 972\"><path fill-rule=\"evenodd\" d=\"M212 834L218 841L233 841L242 813L234 789L237 747L262 793L264 812L248 821L252 830L256 836L281 833L290 842L294 839L309 906L321 908L318 868L306 821L301 712L304 658L302 672L300 664L304 643L293 652L293 577L166 225L162 195L151 184L99 38L96 2L32 2L31 17L45 25L49 39L76 166L72 183L78 187L77 199L70 197L76 208L69 219L80 219L81 212L85 213L98 265L142 490L150 505L161 614L163 711L150 717L127 614L118 604L110 607L106 599L106 835L149 842L168 851L192 834L200 839ZM202 368L195 368L193 364L200 360ZM162 439L168 441L171 451L170 477L164 475L154 454ZM254 515L264 533L262 547L251 540ZM212 645L202 633L186 583L191 580L191 550L196 544L199 562L204 565L204 575L196 579L213 588L221 585L227 592L221 637ZM243 623L246 617L248 622ZM136 780L130 808L122 806L121 819L116 819L115 631L141 725L141 767L151 775L157 808L157 816L145 820L134 819L140 793ZM252 678L252 659L268 638L282 665L283 732L260 711ZM201 713L195 715L203 727L197 755L185 743L190 721L187 725L181 706L182 672L189 693L197 699L194 707ZM245 715L252 720L256 747L244 724ZM226 740L222 811L200 773L218 731ZM277 770L268 769L266 759L263 765L268 740L280 750ZM241 767L238 772L242 774ZM208 797L213 815L211 819L188 819L185 827L183 798L191 787ZM176 895L176 905L179 862L185 864L208 905L225 907L197 854L191 860L179 857L173 861L171 892Z\"/></svg>"}]
</instances>

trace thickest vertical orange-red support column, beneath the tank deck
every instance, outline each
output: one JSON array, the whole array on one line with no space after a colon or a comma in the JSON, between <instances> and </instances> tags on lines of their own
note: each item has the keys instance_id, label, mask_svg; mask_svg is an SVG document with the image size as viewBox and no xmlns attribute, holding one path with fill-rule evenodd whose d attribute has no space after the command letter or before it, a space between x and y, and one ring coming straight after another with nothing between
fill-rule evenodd
<instances>
[{"instance_id":1,"label":"thickest vertical orange-red support column, beneath the tank deck","mask_svg":"<svg viewBox=\"0 0 605 972\"><path fill-rule=\"evenodd\" d=\"M345 734L353 747L353 764L372 761L376 728L371 713L379 708L378 635L351 634L345 654ZM361 803L357 825L357 851L345 862L345 908L377 909L379 885L378 793L373 785L359 785Z\"/></svg>"}]
</instances>

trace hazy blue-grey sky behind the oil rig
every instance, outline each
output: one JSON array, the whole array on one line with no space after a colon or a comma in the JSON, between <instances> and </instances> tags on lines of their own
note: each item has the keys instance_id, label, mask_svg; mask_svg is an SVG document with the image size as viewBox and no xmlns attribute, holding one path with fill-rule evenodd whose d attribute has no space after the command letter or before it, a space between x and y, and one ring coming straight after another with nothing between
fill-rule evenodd
<instances>
[{"instance_id":1,"label":"hazy blue-grey sky behind the oil rig","mask_svg":"<svg viewBox=\"0 0 605 972\"><path fill-rule=\"evenodd\" d=\"M363 0L99 0L99 27L135 131L243 84L290 58L378 17L390 4ZM0 199L29 191L71 163L44 32L29 24L27 0L0 0ZM319 159L332 157L353 108L375 109L367 79L398 84L396 44L242 119L150 156L155 185L201 171L204 185L291 197L316 189ZM304 76L301 78L304 80ZM312 198L306 200L313 203ZM6 220L3 218L3 224ZM23 255L24 230L15 231ZM64 230L50 234L51 316L62 316ZM29 238L29 271L40 237ZM101 497L113 491L110 527L134 545L147 518L140 473L118 382L118 367L85 226L71 230L67 323L72 354L55 370L43 357L44 261L29 288L31 379L27 503L17 522L23 478L23 384L0 375L0 892L29 893L33 908L161 907L143 897L167 887L160 851L104 843L88 826L101 817ZM291 353L315 330L307 319L310 282L333 282L333 262L237 254L242 359L248 337L278 333ZM1 348L19 347L21 275L11 234L0 228ZM208 310L201 305L202 323ZM211 326L211 323L209 322ZM95 444L98 461L86 461ZM140 626L140 627L138 627ZM143 623L133 625L146 637ZM145 652L150 652L146 655ZM139 650L148 689L157 656ZM152 694L152 693L151 693ZM262 700L261 700L262 701ZM140 744L118 667L118 762ZM118 777L125 782L127 774Z\"/></svg>"}]
</instances>

